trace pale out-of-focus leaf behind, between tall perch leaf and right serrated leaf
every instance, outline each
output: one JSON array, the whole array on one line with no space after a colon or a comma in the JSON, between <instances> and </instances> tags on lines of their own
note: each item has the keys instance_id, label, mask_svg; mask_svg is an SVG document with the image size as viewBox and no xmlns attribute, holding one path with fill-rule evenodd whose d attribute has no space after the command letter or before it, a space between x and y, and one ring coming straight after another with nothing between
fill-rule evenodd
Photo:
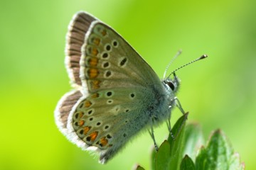
<instances>
[{"instance_id":1,"label":"pale out-of-focus leaf behind, between tall perch leaf and right serrated leaf","mask_svg":"<svg viewBox=\"0 0 256 170\"><path fill-rule=\"evenodd\" d=\"M196 160L196 154L203 145L203 132L198 123L189 123L186 125L184 141L183 141L183 156L186 154L193 160Z\"/></svg>"}]
</instances>

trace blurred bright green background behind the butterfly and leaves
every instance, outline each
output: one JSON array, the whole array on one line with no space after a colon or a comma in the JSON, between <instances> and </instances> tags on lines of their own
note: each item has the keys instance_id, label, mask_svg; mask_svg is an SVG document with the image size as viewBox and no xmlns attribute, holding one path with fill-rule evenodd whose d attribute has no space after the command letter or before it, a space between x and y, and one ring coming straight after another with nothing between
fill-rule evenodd
<instances>
[{"instance_id":1,"label":"blurred bright green background behind the butterfly and leaves","mask_svg":"<svg viewBox=\"0 0 256 170\"><path fill-rule=\"evenodd\" d=\"M106 165L72 145L55 126L53 111L70 91L64 67L65 33L83 10L112 26L159 77L177 72L178 98L207 138L221 128L247 169L256 169L256 1L1 1L0 169L149 169L152 140L139 135ZM181 116L176 110L172 122ZM156 129L156 140L167 135Z\"/></svg>"}]
</instances>

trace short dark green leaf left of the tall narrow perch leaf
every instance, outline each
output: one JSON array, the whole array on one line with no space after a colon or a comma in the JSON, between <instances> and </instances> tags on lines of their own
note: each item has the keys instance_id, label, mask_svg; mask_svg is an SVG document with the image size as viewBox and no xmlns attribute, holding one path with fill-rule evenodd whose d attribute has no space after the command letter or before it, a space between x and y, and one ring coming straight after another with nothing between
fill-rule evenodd
<instances>
[{"instance_id":1,"label":"short dark green leaf left of the tall narrow perch leaf","mask_svg":"<svg viewBox=\"0 0 256 170\"><path fill-rule=\"evenodd\" d=\"M155 167L157 169L169 169L170 162L170 144L165 140L156 152Z\"/></svg>"}]
</instances>

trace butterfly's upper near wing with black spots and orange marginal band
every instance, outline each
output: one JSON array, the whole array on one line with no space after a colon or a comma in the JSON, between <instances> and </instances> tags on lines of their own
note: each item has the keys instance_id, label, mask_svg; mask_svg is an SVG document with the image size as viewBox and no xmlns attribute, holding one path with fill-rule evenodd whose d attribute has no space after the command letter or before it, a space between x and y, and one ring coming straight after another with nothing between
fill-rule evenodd
<instances>
[{"instance_id":1,"label":"butterfly's upper near wing with black spots and orange marginal band","mask_svg":"<svg viewBox=\"0 0 256 170\"><path fill-rule=\"evenodd\" d=\"M149 64L118 33L100 21L93 21L85 35L80 67L82 84L89 92L161 84Z\"/></svg>"}]
</instances>

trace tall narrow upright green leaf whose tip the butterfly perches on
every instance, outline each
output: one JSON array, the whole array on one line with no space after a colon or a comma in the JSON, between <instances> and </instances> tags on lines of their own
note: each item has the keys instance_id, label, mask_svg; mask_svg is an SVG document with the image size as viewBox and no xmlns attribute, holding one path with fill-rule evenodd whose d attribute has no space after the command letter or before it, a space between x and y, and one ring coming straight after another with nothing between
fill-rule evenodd
<instances>
[{"instance_id":1,"label":"tall narrow upright green leaf whose tip the butterfly perches on","mask_svg":"<svg viewBox=\"0 0 256 170\"><path fill-rule=\"evenodd\" d=\"M174 125L174 128L171 130L173 132L174 138L169 135L168 141L171 145L171 155L169 161L170 169L179 169L181 164L181 159L183 157L182 149L183 149L183 136L186 125L186 120L188 117L188 113L184 114L177 120Z\"/></svg>"}]
</instances>

